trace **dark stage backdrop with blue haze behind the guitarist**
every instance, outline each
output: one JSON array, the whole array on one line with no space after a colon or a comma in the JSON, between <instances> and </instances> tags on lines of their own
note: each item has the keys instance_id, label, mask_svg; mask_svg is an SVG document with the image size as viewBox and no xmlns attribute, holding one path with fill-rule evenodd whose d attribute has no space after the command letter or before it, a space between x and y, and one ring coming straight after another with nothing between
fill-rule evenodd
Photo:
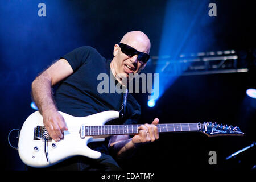
<instances>
[{"instance_id":1,"label":"dark stage backdrop with blue haze behind the guitarist","mask_svg":"<svg viewBox=\"0 0 256 182\"><path fill-rule=\"evenodd\" d=\"M46 17L38 16L40 2L46 4ZM208 16L210 2L217 5L216 17ZM167 17L170 3L178 8L176 11L173 8L174 13ZM197 18L179 19L184 14L195 14ZM243 57L246 67L255 61L253 1L4 0L0 2L0 18L1 156L8 171L25 168L18 151L9 146L7 135L11 129L20 129L35 111L30 107L31 82L72 49L89 45L111 59L114 44L126 32L140 30L151 40L152 56L158 56L160 48L168 46L181 47L171 50L176 55L234 49ZM176 30L180 35L163 30L169 22L169 28L183 25ZM191 22L193 26L187 29ZM186 30L184 35L183 30ZM169 39L170 45L164 43ZM245 135L208 138L203 133L160 134L158 141L142 147L129 162L122 162L123 169L250 171L255 165L253 148L236 159L225 158L255 140L255 107L253 99L246 95L246 89L255 88L255 71L251 68L246 73L180 76L152 108L147 106L147 94L134 94L142 107L141 123L150 123L156 117L160 123L213 121L239 126ZM209 165L209 151L216 151L217 165Z\"/></svg>"}]
</instances>

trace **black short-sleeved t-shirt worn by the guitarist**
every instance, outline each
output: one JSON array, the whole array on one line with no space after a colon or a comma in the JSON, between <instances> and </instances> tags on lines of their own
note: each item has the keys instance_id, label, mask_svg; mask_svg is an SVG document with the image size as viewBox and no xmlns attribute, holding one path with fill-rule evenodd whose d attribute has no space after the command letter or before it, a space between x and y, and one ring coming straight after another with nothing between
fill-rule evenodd
<instances>
[{"instance_id":1,"label":"black short-sleeved t-shirt worn by the guitarist","mask_svg":"<svg viewBox=\"0 0 256 182\"><path fill-rule=\"evenodd\" d=\"M76 48L60 58L68 61L73 74L65 78L55 92L56 106L59 111L75 117L85 117L107 110L121 110L123 93L110 93L110 79L114 79L114 76L110 76L112 72L109 60L89 46ZM108 75L109 93L99 93L97 90L98 84L102 82L97 79L100 73ZM114 82L117 84L117 81L114 80ZM131 94L128 94L124 124L137 123L140 115L141 106ZM114 124L117 123L119 120L115 119ZM94 150L107 152L105 147L104 150L98 147L102 144L101 142L92 143L98 143L92 147Z\"/></svg>"}]
</instances>

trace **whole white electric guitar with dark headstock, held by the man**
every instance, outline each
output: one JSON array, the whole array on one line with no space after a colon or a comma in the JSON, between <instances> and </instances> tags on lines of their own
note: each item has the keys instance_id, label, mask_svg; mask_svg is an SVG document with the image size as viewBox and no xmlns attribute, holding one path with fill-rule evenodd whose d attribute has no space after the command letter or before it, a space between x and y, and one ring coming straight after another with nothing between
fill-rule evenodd
<instances>
[{"instance_id":1,"label":"whole white electric guitar with dark headstock, held by the man","mask_svg":"<svg viewBox=\"0 0 256 182\"><path fill-rule=\"evenodd\" d=\"M87 117L73 117L60 112L68 127L64 137L55 142L43 126L43 117L36 111L24 122L19 135L18 150L22 161L32 167L48 167L75 155L97 159L101 153L90 149L89 142L104 141L110 135L138 134L141 125L104 125L119 118L118 111L104 111ZM217 123L159 124L159 133L200 131L213 137L217 135L243 135L238 127Z\"/></svg>"}]
</instances>

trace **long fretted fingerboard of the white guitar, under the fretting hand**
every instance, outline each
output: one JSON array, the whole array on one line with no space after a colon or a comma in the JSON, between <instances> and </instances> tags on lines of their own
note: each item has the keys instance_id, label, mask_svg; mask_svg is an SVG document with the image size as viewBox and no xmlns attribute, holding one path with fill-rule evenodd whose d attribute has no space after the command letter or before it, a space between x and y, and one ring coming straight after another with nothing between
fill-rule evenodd
<instances>
[{"instance_id":1,"label":"long fretted fingerboard of the white guitar, under the fretting hand","mask_svg":"<svg viewBox=\"0 0 256 182\"><path fill-rule=\"evenodd\" d=\"M159 133L170 132L188 132L199 131L200 123L174 123L174 124L159 124ZM123 134L138 134L138 127L141 125L102 125L102 126L85 126L85 136L95 135L123 135Z\"/></svg>"}]
</instances>

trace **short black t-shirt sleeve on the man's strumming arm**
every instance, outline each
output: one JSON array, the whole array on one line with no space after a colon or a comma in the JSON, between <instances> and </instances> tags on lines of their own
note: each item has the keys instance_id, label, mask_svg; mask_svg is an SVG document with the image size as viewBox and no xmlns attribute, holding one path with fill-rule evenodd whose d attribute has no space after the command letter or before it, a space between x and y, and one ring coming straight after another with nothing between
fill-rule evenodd
<instances>
[{"instance_id":1,"label":"short black t-shirt sleeve on the man's strumming arm","mask_svg":"<svg viewBox=\"0 0 256 182\"><path fill-rule=\"evenodd\" d=\"M90 52L94 51L94 48L90 46L82 46L74 49L73 51L67 53L66 55L60 57L68 61L71 65L73 71L77 71L82 64L86 63Z\"/></svg>"}]
</instances>

